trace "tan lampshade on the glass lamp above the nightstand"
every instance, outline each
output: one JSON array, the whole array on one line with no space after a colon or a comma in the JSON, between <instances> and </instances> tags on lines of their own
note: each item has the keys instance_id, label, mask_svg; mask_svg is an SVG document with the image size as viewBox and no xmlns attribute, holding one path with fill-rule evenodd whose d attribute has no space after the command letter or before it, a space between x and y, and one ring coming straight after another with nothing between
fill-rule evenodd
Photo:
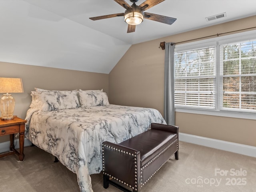
<instances>
[{"instance_id":1,"label":"tan lampshade on the glass lamp above the nightstand","mask_svg":"<svg viewBox=\"0 0 256 192\"><path fill-rule=\"evenodd\" d=\"M23 93L21 78L0 77L0 93Z\"/></svg>"}]
</instances>

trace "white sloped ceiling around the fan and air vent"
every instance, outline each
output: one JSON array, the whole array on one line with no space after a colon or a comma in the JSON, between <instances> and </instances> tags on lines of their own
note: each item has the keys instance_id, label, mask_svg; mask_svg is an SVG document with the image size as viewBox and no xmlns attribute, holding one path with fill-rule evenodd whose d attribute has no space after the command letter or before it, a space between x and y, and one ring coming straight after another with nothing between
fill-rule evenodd
<instances>
[{"instance_id":1,"label":"white sloped ceiling around the fan and air vent","mask_svg":"<svg viewBox=\"0 0 256 192\"><path fill-rule=\"evenodd\" d=\"M123 17L89 19L124 12L114 0L0 0L0 61L108 74L132 44L253 16L255 10L256 0L165 0L146 12L177 18L174 24L145 19L126 33ZM225 18L205 19L224 12Z\"/></svg>"}]
</instances>

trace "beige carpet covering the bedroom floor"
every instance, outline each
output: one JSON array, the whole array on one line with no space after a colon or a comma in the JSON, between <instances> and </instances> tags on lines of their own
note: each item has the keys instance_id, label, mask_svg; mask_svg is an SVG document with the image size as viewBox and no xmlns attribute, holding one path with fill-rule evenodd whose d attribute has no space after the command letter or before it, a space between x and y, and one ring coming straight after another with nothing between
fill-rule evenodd
<instances>
[{"instance_id":1,"label":"beige carpet covering the bedroom floor","mask_svg":"<svg viewBox=\"0 0 256 192\"><path fill-rule=\"evenodd\" d=\"M24 153L24 162L16 155L0 158L0 192L79 192L76 174L54 163L51 154L37 147L26 147ZM179 157L169 160L141 191L256 192L256 158L186 142L180 142ZM102 174L91 177L94 192L121 192L112 185L104 189Z\"/></svg>"}]
</instances>

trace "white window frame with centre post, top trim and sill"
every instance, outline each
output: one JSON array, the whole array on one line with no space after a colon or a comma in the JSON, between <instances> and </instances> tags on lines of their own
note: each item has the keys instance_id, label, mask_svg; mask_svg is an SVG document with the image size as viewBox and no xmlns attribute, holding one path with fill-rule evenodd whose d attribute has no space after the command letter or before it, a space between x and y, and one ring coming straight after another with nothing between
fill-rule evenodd
<instances>
[{"instance_id":1,"label":"white window frame with centre post, top trim and sill","mask_svg":"<svg viewBox=\"0 0 256 192\"><path fill-rule=\"evenodd\" d=\"M220 108L220 99L221 99L220 97L222 97L220 95L220 88L222 85L222 79L220 78L220 45L246 41L251 39L256 39L256 30L175 45L174 52L181 52L181 51L192 50L197 48L216 46L216 85L215 85L216 107L215 109L210 109L210 108L202 109L202 108L196 108L196 107L175 106L175 112L186 112L186 113L193 113L193 114L204 114L204 115L225 116L225 117L232 117L232 118L244 118L244 119L256 120L256 112L246 112L246 111L236 112L235 110Z\"/></svg>"}]
</instances>

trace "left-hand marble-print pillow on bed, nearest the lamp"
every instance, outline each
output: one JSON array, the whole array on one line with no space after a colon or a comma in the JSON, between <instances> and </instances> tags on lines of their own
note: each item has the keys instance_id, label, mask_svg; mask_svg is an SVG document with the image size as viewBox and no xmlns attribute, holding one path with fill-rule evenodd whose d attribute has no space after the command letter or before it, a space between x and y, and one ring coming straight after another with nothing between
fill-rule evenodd
<instances>
[{"instance_id":1,"label":"left-hand marble-print pillow on bed, nearest the lamp","mask_svg":"<svg viewBox=\"0 0 256 192\"><path fill-rule=\"evenodd\" d=\"M80 106L77 91L32 91L31 108L39 108L42 111L78 108Z\"/></svg>"}]
</instances>

